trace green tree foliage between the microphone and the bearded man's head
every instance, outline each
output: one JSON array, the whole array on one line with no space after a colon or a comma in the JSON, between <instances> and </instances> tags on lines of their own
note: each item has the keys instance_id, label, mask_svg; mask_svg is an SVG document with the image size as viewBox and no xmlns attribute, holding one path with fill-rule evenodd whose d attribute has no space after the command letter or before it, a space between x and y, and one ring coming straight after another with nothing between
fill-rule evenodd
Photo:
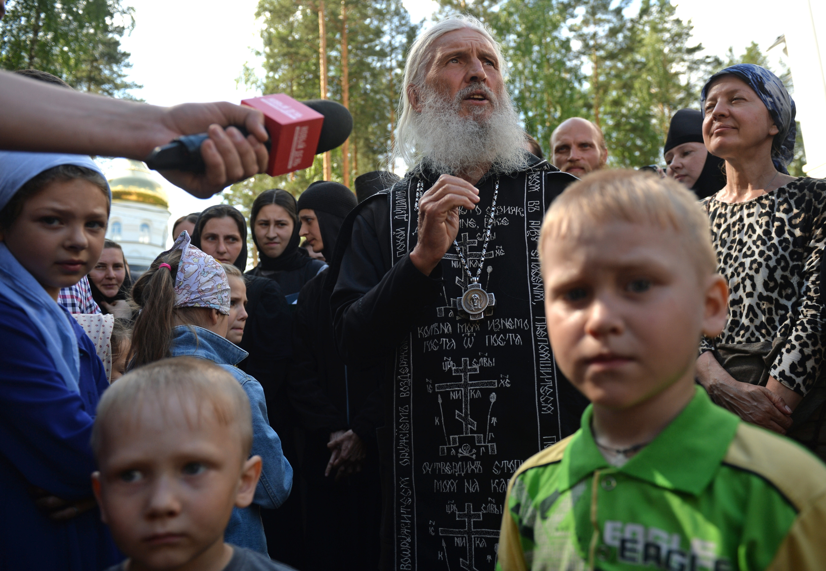
<instances>
[{"instance_id":1,"label":"green tree foliage between the microphone and the bearded man's head","mask_svg":"<svg viewBox=\"0 0 826 571\"><path fill-rule=\"evenodd\" d=\"M358 174L383 168L396 125L398 84L405 54L420 26L412 24L400 0L351 2L347 9L349 110L353 134L349 137L350 181ZM341 3L325 2L328 97L342 101ZM244 68L242 81L262 93L287 93L299 101L320 97L319 25L316 2L260 0L256 17L263 21L261 37L263 78ZM342 149L330 153L332 180L343 182ZM268 177L259 175L225 191L228 204L249 212L255 196L268 188L282 188L299 196L311 182L323 177L316 157L304 171ZM246 209L246 210L244 210Z\"/></svg>"}]
</instances>

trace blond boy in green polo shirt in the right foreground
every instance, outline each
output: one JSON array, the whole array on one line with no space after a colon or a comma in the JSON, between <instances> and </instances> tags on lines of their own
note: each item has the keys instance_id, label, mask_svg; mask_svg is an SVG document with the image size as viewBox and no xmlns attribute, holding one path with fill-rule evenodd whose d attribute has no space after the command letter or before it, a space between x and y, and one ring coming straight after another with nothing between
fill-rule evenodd
<instances>
[{"instance_id":1,"label":"blond boy in green polo shirt in the right foreground","mask_svg":"<svg viewBox=\"0 0 826 571\"><path fill-rule=\"evenodd\" d=\"M826 569L826 467L695 385L728 287L691 192L592 174L539 246L553 352L591 406L510 480L497 569Z\"/></svg>"}]
</instances>

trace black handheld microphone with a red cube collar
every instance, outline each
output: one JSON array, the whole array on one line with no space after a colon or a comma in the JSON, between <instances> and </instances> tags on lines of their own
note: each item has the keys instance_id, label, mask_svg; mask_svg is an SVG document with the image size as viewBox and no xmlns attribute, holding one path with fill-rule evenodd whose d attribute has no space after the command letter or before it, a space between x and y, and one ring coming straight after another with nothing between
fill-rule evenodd
<instances>
[{"instance_id":1,"label":"black handheld microphone with a red cube collar","mask_svg":"<svg viewBox=\"0 0 826 571\"><path fill-rule=\"evenodd\" d=\"M353 130L353 116L347 108L328 99L300 102L277 93L244 99L241 105L263 113L264 128L269 134L265 145L269 153L266 172L270 177L310 167L316 154L343 144ZM244 137L249 134L244 127L235 128ZM208 138L207 133L183 135L155 147L144 162L156 171L204 172L201 144Z\"/></svg>"}]
</instances>

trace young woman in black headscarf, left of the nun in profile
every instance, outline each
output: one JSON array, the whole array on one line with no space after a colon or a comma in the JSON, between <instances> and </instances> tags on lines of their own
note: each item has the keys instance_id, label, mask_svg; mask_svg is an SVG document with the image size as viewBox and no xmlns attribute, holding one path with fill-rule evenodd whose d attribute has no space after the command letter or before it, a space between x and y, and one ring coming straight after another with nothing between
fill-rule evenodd
<instances>
[{"instance_id":1,"label":"young woman in black headscarf, left of the nun in profile","mask_svg":"<svg viewBox=\"0 0 826 571\"><path fill-rule=\"evenodd\" d=\"M281 189L263 191L253 202L249 226L260 256L259 265L249 275L278 281L287 303L294 304L304 284L326 267L298 248L296 199Z\"/></svg>"}]
</instances>

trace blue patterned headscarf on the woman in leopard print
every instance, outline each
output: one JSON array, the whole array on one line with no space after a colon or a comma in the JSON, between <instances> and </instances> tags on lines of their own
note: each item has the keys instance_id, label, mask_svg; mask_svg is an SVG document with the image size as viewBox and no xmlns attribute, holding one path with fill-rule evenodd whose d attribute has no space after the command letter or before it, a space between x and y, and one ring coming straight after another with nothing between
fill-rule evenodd
<instances>
[{"instance_id":1,"label":"blue patterned headscarf on the woman in leopard print","mask_svg":"<svg viewBox=\"0 0 826 571\"><path fill-rule=\"evenodd\" d=\"M700 92L700 109L705 115L705 98L709 94L709 86L721 75L731 73L748 83L760 101L769 110L771 120L775 122L780 130L775 135L774 143L771 144L771 162L775 168L783 174L789 174L786 165L795 156L795 137L797 136L797 125L795 125L795 100L791 98L786 86L780 78L771 73L767 68L762 68L754 64L736 64L725 68L721 72L714 73Z\"/></svg>"}]
</instances>

